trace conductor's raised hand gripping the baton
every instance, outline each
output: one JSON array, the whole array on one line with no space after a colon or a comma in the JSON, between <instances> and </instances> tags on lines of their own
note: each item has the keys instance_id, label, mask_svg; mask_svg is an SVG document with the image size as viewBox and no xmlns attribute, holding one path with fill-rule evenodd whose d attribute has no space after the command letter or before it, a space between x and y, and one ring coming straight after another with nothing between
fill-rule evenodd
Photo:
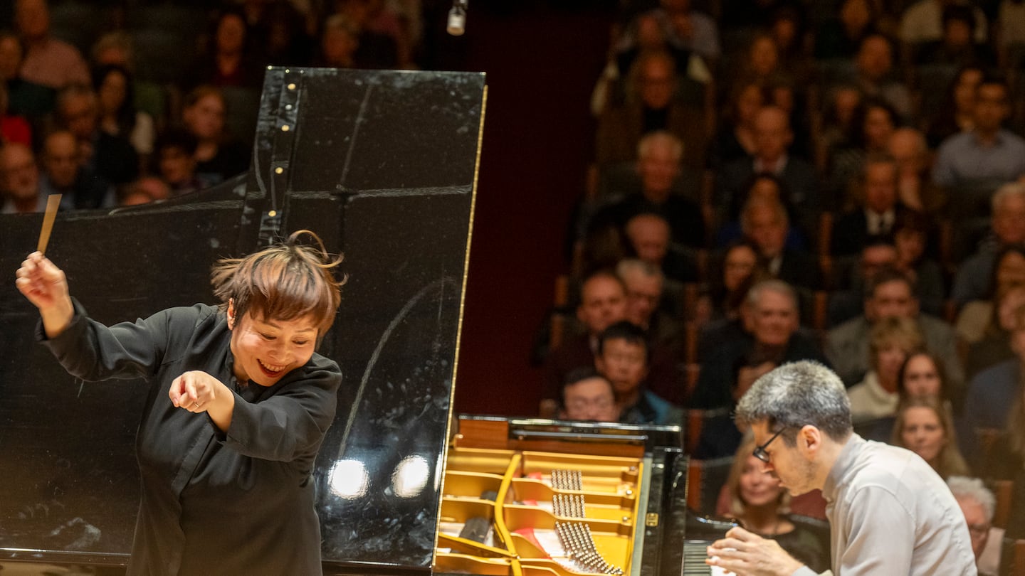
<instances>
[{"instance_id":1,"label":"conductor's raised hand gripping the baton","mask_svg":"<svg viewBox=\"0 0 1025 576\"><path fill-rule=\"evenodd\" d=\"M39 308L46 335L52 338L64 332L75 314L64 271L40 252L33 252L14 277L18 291Z\"/></svg>"}]
</instances>

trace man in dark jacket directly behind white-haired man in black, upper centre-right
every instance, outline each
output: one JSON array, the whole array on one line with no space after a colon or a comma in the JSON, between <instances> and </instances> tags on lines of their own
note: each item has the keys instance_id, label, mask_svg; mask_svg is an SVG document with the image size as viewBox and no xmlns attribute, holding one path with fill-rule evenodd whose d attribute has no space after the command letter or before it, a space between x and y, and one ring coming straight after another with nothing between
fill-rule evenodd
<instances>
[{"instance_id":1,"label":"man in dark jacket directly behind white-haired man in black, upper centre-right","mask_svg":"<svg viewBox=\"0 0 1025 576\"><path fill-rule=\"evenodd\" d=\"M598 162L633 160L642 136L665 130L683 141L681 158L686 165L704 168L708 119L700 107L675 97L679 84L671 55L666 52L639 55L626 80L625 101L607 107L599 118Z\"/></svg>"}]
</instances>

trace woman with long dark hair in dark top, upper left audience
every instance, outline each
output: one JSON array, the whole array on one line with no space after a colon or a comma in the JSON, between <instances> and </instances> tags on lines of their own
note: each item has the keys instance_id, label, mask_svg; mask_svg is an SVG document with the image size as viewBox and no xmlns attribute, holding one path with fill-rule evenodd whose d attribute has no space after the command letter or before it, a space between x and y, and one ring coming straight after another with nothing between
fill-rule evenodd
<instances>
[{"instance_id":1,"label":"woman with long dark hair in dark top, upper left audience","mask_svg":"<svg viewBox=\"0 0 1025 576\"><path fill-rule=\"evenodd\" d=\"M104 66L93 71L92 87L99 104L99 127L112 136L128 138L144 168L153 154L153 117L135 110L134 84L126 68Z\"/></svg>"}]
</instances>

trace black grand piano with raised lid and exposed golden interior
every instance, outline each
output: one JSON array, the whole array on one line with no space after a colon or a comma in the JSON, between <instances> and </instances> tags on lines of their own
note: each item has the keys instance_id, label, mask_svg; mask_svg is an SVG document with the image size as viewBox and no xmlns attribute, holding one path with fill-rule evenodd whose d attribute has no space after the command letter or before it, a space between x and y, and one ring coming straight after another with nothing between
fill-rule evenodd
<instances>
[{"instance_id":1,"label":"black grand piano with raised lid and exposed golden interior","mask_svg":"<svg viewBox=\"0 0 1025 576\"><path fill-rule=\"evenodd\" d=\"M679 427L451 413L485 96L483 74L271 68L247 174L58 214L47 255L114 323L214 301L213 261L295 230L345 254L320 348L344 377L315 471L326 574L596 573L570 529L625 574L707 573ZM0 568L123 573L146 384L76 380L34 341L13 272L41 219L0 216Z\"/></svg>"}]
</instances>

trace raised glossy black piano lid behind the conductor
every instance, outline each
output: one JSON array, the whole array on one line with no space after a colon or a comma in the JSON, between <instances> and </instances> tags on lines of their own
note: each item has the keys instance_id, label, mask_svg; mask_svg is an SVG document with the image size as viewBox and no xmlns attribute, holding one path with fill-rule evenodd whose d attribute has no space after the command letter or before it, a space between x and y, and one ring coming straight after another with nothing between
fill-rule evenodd
<instances>
[{"instance_id":1,"label":"raised glossy black piano lid behind the conductor","mask_svg":"<svg viewBox=\"0 0 1025 576\"><path fill-rule=\"evenodd\" d=\"M245 177L53 229L47 255L105 323L214 302L217 258L295 230L345 254L319 351L344 380L315 470L338 571L430 570L484 94L483 74L271 68ZM123 564L147 386L76 381L34 341L13 272L41 219L0 216L0 560Z\"/></svg>"}]
</instances>

